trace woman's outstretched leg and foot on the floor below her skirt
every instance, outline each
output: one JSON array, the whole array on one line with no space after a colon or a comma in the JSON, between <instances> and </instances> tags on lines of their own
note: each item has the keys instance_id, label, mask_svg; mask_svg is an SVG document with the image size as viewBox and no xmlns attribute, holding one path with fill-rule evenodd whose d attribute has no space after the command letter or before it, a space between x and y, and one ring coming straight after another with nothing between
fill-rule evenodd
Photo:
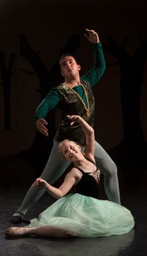
<instances>
[{"instance_id":1,"label":"woman's outstretched leg and foot on the floor below her skirt","mask_svg":"<svg viewBox=\"0 0 147 256\"><path fill-rule=\"evenodd\" d=\"M56 227L41 226L41 227L9 227L5 232L6 237L21 237L21 236L45 236L56 238L72 238L74 235Z\"/></svg>"}]
</instances>

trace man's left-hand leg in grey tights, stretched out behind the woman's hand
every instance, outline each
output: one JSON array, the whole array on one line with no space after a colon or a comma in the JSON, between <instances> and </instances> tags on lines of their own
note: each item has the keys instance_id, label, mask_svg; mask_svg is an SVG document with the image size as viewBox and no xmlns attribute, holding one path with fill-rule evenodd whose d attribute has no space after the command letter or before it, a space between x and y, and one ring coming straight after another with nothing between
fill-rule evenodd
<instances>
[{"instance_id":1,"label":"man's left-hand leg in grey tights, stretched out behind the woman's hand","mask_svg":"<svg viewBox=\"0 0 147 256\"><path fill-rule=\"evenodd\" d=\"M45 181L48 181L50 184L53 184L53 182L55 182L64 173L64 171L70 164L70 162L67 161L66 159L61 159L58 146L59 143L54 141L50 157L48 159L48 162L45 166L42 175L40 176L41 178L44 178ZM36 203L37 200L39 200L39 197L41 197L44 192L45 189L38 187L30 187L29 191L26 194L26 197L23 200L23 203L21 204L20 208L18 208L18 212L26 214L26 211L28 211L29 208L34 206L34 203ZM13 216L22 217L22 214L19 214L18 212L13 214Z\"/></svg>"}]
</instances>

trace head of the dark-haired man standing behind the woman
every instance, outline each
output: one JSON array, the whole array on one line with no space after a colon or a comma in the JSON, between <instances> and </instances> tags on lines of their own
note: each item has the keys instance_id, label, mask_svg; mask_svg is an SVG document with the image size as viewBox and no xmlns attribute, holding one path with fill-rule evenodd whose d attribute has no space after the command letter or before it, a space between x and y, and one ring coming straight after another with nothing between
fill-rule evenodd
<instances>
[{"instance_id":1,"label":"head of the dark-haired man standing behind the woman","mask_svg":"<svg viewBox=\"0 0 147 256\"><path fill-rule=\"evenodd\" d=\"M79 75L80 65L77 64L72 56L65 56L60 61L61 75L64 76L65 80L74 78Z\"/></svg>"}]
</instances>

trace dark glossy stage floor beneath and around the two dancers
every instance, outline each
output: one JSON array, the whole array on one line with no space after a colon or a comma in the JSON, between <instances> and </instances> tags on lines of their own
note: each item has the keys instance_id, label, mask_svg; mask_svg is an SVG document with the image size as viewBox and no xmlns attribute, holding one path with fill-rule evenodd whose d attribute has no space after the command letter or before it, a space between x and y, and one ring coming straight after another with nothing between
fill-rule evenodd
<instances>
[{"instance_id":1,"label":"dark glossy stage floor beneath and around the two dancers","mask_svg":"<svg viewBox=\"0 0 147 256\"><path fill-rule=\"evenodd\" d=\"M18 208L31 180L34 180L34 170L31 166L19 159L10 159L4 165L10 167L11 175L6 173L1 178L0 189L0 255L51 255L51 256L146 256L147 255L147 189L146 173L143 184L137 189L128 189L121 185L121 203L137 217L135 229L121 236L106 238L11 238L4 237L4 231L10 227L12 213ZM21 167L21 168L20 168ZM26 176L18 171L26 169ZM5 170L6 171L6 170ZM16 174L17 173L17 174ZM29 181L26 177L30 177ZM28 219L36 217L51 203L46 193L27 214Z\"/></svg>"}]
</instances>

